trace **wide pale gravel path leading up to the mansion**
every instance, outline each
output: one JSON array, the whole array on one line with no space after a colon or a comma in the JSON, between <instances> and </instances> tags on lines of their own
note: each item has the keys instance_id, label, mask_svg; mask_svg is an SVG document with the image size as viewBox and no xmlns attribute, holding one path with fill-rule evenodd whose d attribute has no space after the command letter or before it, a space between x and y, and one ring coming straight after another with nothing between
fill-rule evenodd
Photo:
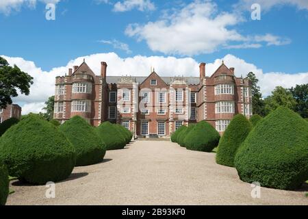
<instances>
[{"instance_id":1,"label":"wide pale gravel path leading up to the mansion","mask_svg":"<svg viewBox=\"0 0 308 219\"><path fill-rule=\"evenodd\" d=\"M45 186L14 181L12 189L8 205L308 205L307 185L296 192L261 188L261 198L252 198L251 184L216 164L215 153L156 141L133 142L107 151L101 164L75 168L55 184L55 198L45 198Z\"/></svg>"}]
</instances>

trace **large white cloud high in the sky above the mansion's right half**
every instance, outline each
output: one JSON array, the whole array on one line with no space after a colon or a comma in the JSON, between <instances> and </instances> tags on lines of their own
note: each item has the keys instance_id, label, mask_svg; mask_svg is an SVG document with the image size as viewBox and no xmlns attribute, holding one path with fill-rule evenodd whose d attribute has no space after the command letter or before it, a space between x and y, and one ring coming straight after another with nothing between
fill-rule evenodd
<instances>
[{"instance_id":1,"label":"large white cloud high in the sky above the mansion's right half","mask_svg":"<svg viewBox=\"0 0 308 219\"><path fill-rule=\"evenodd\" d=\"M216 3L194 1L155 22L130 24L127 36L146 40L152 51L165 54L196 55L221 48L245 49L282 45L290 40L279 36L243 36L235 29L243 21L238 13L219 12Z\"/></svg>"}]
</instances>

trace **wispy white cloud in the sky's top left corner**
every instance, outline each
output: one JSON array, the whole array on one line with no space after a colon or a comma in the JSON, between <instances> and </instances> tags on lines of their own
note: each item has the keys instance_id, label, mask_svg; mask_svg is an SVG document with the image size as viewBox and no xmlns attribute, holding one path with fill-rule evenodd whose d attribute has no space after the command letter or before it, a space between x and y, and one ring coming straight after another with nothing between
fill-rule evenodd
<instances>
[{"instance_id":1,"label":"wispy white cloud in the sky's top left corner","mask_svg":"<svg viewBox=\"0 0 308 219\"><path fill-rule=\"evenodd\" d=\"M37 1L42 3L54 3L57 4L60 0L1 0L0 1L0 13L9 15L12 11L19 11L23 6L28 8L35 8Z\"/></svg>"}]
</instances>

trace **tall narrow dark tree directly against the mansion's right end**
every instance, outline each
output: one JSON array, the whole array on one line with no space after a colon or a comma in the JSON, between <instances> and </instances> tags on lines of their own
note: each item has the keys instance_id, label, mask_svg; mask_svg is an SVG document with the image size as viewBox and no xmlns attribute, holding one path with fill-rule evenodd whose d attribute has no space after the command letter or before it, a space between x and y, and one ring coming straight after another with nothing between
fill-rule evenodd
<instances>
[{"instance_id":1,"label":"tall narrow dark tree directly against the mansion's right end","mask_svg":"<svg viewBox=\"0 0 308 219\"><path fill-rule=\"evenodd\" d=\"M259 114L264 116L264 100L262 99L262 94L260 91L260 87L257 86L259 79L255 76L254 73L248 73L246 79L251 81L251 93L252 93L252 101L253 101L253 114Z\"/></svg>"}]
</instances>

